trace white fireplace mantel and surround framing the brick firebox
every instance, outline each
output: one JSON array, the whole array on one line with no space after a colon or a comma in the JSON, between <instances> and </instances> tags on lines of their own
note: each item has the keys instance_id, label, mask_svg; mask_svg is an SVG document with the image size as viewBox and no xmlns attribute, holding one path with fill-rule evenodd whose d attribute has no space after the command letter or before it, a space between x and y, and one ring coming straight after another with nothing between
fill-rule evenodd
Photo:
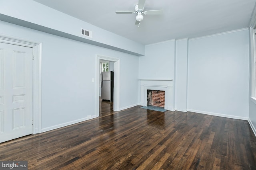
<instances>
[{"instance_id":1,"label":"white fireplace mantel and surround framing the brick firebox","mask_svg":"<svg viewBox=\"0 0 256 170\"><path fill-rule=\"evenodd\" d=\"M165 91L164 109L173 110L173 81L172 80L152 80L139 79L140 81L140 105L147 106L147 91Z\"/></svg>"}]
</instances>

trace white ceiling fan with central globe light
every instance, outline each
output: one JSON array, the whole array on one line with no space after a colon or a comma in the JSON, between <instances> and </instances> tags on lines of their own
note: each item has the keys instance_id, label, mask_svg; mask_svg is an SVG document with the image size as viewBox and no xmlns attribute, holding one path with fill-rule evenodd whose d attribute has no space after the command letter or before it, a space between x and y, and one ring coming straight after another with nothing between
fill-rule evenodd
<instances>
[{"instance_id":1,"label":"white ceiling fan with central globe light","mask_svg":"<svg viewBox=\"0 0 256 170\"><path fill-rule=\"evenodd\" d=\"M137 14L136 16L136 22L135 25L139 25L140 27L140 21L143 20L144 15L161 15L163 14L163 10L150 10L150 11L144 11L144 4L146 0L139 0L138 4L135 5L135 12L132 11L116 11L116 14Z\"/></svg>"}]
</instances>

